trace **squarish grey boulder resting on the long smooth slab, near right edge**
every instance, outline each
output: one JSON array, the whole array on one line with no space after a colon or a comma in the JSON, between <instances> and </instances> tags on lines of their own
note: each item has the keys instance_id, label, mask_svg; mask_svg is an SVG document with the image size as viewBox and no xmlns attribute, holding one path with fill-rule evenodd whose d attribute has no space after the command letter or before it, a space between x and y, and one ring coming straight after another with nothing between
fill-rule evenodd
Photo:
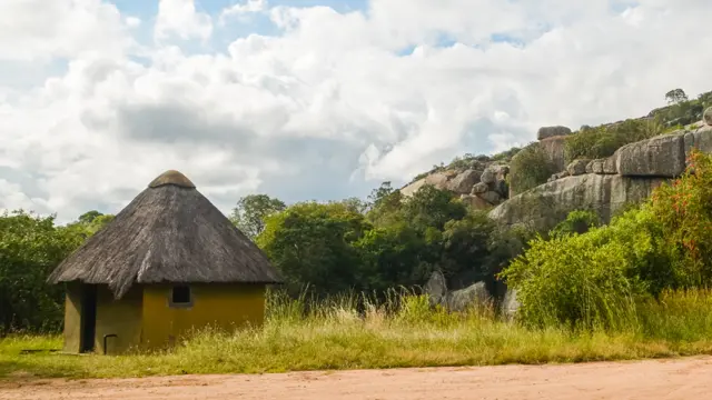
<instances>
[{"instance_id":1,"label":"squarish grey boulder resting on the long smooth slab, near right edge","mask_svg":"<svg viewBox=\"0 0 712 400\"><path fill-rule=\"evenodd\" d=\"M684 133L659 136L615 151L616 170L625 177L679 177L685 169Z\"/></svg>"}]
</instances>

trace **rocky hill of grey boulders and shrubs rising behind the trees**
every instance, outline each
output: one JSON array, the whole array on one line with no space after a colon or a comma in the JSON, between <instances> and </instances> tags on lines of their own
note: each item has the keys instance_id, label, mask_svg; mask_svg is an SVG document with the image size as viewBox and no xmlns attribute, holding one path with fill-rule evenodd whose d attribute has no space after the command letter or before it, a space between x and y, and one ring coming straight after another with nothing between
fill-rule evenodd
<instances>
[{"instance_id":1,"label":"rocky hill of grey boulders and shrubs rising behind the trees","mask_svg":"<svg viewBox=\"0 0 712 400\"><path fill-rule=\"evenodd\" d=\"M706 109L701 111L703 106ZM458 194L475 209L491 210L490 217L503 224L527 223L540 231L553 228L574 210L595 210L607 222L616 211L647 198L663 181L679 177L693 148L712 152L710 106L712 92L642 118L582 127L576 132L561 126L544 127L537 141L523 151L457 159L417 177L400 192L412 196L433 184ZM641 137L645 139L631 140ZM589 139L597 141L592 144ZM532 157L532 149L540 161ZM605 157L585 157L587 153ZM525 164L517 170L526 157L532 168ZM522 181L518 174L533 169L540 169L533 183L513 187Z\"/></svg>"}]
</instances>

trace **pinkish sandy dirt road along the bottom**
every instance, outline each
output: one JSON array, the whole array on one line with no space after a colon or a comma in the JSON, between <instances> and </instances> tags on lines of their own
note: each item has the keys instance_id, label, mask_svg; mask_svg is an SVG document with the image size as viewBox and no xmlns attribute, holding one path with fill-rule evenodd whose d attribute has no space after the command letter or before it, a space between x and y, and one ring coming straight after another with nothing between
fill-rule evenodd
<instances>
[{"instance_id":1,"label":"pinkish sandy dirt road along the bottom","mask_svg":"<svg viewBox=\"0 0 712 400\"><path fill-rule=\"evenodd\" d=\"M0 399L705 399L712 358L261 376L0 381Z\"/></svg>"}]
</instances>

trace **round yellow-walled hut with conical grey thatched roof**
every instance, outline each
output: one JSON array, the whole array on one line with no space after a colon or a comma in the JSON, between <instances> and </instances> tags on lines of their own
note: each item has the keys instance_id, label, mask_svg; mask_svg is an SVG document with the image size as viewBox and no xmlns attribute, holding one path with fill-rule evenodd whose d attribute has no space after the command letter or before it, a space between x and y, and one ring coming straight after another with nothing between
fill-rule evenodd
<instances>
[{"instance_id":1,"label":"round yellow-walled hut with conical grey thatched roof","mask_svg":"<svg viewBox=\"0 0 712 400\"><path fill-rule=\"evenodd\" d=\"M65 351L120 353L192 328L259 324L265 253L178 171L156 178L49 277L66 282Z\"/></svg>"}]
</instances>

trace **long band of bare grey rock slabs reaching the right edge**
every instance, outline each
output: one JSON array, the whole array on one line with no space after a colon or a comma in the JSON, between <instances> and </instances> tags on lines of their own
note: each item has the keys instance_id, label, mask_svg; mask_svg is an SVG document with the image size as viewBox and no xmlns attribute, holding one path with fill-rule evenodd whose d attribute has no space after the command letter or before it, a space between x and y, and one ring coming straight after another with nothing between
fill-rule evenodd
<instances>
[{"instance_id":1,"label":"long band of bare grey rock slabs reaching the right edge","mask_svg":"<svg viewBox=\"0 0 712 400\"><path fill-rule=\"evenodd\" d=\"M595 210L609 222L625 204L645 200L662 182L679 177L693 148L712 153L712 126L630 143L607 159L573 161L566 172L510 198L490 217L538 231L552 229L574 210Z\"/></svg>"}]
</instances>

